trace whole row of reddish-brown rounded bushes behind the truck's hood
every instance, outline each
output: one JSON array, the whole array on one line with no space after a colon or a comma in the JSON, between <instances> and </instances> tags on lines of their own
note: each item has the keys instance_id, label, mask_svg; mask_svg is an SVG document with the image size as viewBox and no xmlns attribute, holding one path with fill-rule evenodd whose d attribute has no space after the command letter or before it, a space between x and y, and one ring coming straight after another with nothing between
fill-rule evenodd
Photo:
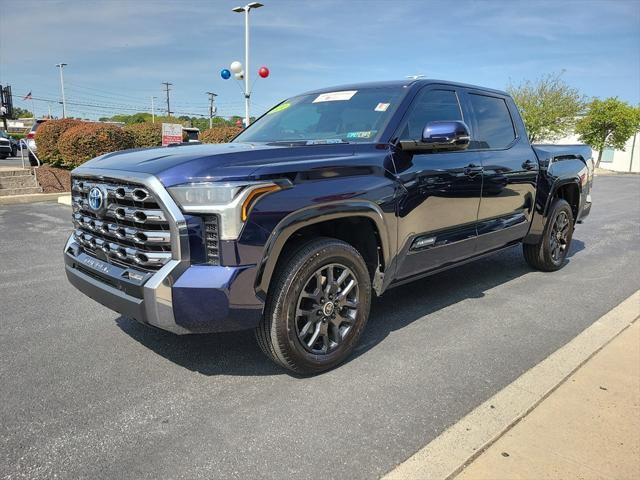
<instances>
[{"instance_id":1,"label":"whole row of reddish-brown rounded bushes behind the truck's hood","mask_svg":"<svg viewBox=\"0 0 640 480\"><path fill-rule=\"evenodd\" d=\"M241 131L239 127L218 126L204 130L200 139L203 143L225 143ZM121 128L70 118L49 120L36 131L36 144L44 163L75 167L117 150L158 147L162 144L162 124L135 123Z\"/></svg>"}]
</instances>

